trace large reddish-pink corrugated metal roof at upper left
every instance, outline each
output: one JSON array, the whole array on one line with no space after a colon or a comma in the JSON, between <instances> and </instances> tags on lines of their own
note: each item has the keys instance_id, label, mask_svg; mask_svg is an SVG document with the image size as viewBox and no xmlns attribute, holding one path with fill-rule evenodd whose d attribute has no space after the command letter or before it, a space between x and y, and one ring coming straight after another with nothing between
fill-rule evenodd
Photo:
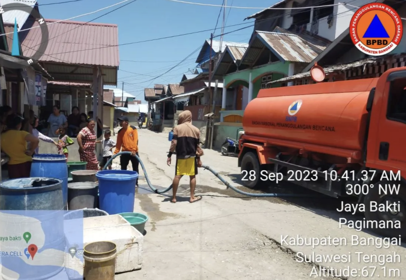
<instances>
[{"instance_id":1,"label":"large reddish-pink corrugated metal roof at upper left","mask_svg":"<svg viewBox=\"0 0 406 280\"><path fill-rule=\"evenodd\" d=\"M69 63L86 65L119 66L117 24L76 21L55 23L57 21L45 20L48 24L50 41L45 54L39 61L62 63L69 61ZM33 26L38 25L37 21L33 24ZM24 35L28 33L22 42L22 50L24 56L30 57L35 54L37 45L41 43L41 28L33 28L22 31L22 33ZM24 36L22 37L24 38Z\"/></svg>"}]
</instances>

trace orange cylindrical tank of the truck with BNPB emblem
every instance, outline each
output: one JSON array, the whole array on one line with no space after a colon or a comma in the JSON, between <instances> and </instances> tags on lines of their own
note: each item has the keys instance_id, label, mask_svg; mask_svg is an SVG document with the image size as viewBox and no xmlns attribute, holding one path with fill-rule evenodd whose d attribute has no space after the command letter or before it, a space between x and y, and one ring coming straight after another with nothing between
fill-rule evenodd
<instances>
[{"instance_id":1,"label":"orange cylindrical tank of the truck with BNPB emblem","mask_svg":"<svg viewBox=\"0 0 406 280\"><path fill-rule=\"evenodd\" d=\"M348 81L345 82L348 85ZM327 83L320 83L261 90L244 111L245 134L361 150L365 139L366 104L372 86L367 83L365 87L353 87L362 91L343 92L340 83L334 82L333 89L338 92L332 92L333 83L328 83L330 89L324 86ZM297 92L303 94L295 95Z\"/></svg>"}]
</instances>

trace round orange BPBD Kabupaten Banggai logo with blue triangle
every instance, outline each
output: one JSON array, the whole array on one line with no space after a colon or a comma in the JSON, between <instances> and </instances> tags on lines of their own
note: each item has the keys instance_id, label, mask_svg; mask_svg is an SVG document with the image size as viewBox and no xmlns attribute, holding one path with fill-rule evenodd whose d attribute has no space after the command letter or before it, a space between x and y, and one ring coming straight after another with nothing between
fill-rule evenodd
<instances>
[{"instance_id":1,"label":"round orange BPBD Kabupaten Banggai logo with blue triangle","mask_svg":"<svg viewBox=\"0 0 406 280\"><path fill-rule=\"evenodd\" d=\"M393 51L402 35L401 17L386 4L366 4L354 13L350 22L352 42L358 50L372 56Z\"/></svg>"}]
</instances>

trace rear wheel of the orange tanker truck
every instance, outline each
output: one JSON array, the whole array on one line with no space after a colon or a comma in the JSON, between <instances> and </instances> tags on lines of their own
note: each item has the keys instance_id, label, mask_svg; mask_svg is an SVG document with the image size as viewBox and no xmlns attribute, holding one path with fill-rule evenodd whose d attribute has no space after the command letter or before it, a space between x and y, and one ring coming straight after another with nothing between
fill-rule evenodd
<instances>
[{"instance_id":1,"label":"rear wheel of the orange tanker truck","mask_svg":"<svg viewBox=\"0 0 406 280\"><path fill-rule=\"evenodd\" d=\"M255 173L253 173L254 170ZM261 180L259 179L260 177L260 172L261 168L259 165L259 160L256 154L254 154L253 152L248 152L246 154L244 154L242 161L241 161L241 176L242 176L242 184L244 184L245 187L248 188L256 188L256 187L260 187L260 183ZM255 175L255 176L251 176L251 179L253 179L253 177L255 178L254 180L250 180L250 171L251 174Z\"/></svg>"}]
</instances>

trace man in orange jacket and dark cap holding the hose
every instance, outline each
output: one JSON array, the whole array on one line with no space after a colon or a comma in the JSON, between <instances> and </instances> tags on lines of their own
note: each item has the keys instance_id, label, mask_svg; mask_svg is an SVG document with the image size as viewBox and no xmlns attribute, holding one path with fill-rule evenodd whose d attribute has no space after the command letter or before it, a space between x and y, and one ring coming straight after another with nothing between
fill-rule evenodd
<instances>
[{"instance_id":1,"label":"man in orange jacket and dark cap holding the hose","mask_svg":"<svg viewBox=\"0 0 406 280\"><path fill-rule=\"evenodd\" d=\"M138 130L135 126L128 125L128 118L126 116L121 116L118 118L120 122L121 129L117 133L117 143L116 150L113 154L120 152L131 152L130 154L122 154L120 156L121 170L127 170L128 163L131 161L132 170L138 173ZM136 181L136 186L138 187L138 178Z\"/></svg>"}]
</instances>

